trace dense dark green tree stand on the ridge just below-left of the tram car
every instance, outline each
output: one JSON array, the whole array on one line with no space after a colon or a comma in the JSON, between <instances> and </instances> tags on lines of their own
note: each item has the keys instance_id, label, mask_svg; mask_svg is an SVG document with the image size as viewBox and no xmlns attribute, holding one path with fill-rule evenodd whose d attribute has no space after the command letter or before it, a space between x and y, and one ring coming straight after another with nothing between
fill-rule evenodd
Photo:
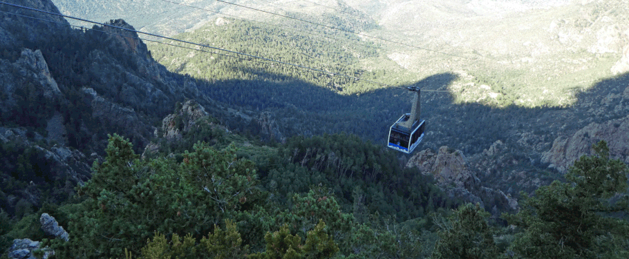
<instances>
[{"instance_id":1,"label":"dense dark green tree stand on the ridge just below-left of the tram car","mask_svg":"<svg viewBox=\"0 0 629 259\"><path fill-rule=\"evenodd\" d=\"M292 137L277 156L292 164L270 171L268 189L281 197L315 184L330 186L341 208L355 210L361 220L376 211L409 220L456 204L431 177L402 168L395 153L355 135Z\"/></svg>"}]
</instances>

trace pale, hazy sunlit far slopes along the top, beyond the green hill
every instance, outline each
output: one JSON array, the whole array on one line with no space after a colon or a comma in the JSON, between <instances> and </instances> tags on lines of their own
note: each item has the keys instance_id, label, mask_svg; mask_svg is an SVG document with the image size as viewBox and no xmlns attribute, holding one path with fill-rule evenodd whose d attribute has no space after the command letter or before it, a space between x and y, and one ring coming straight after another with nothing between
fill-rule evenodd
<instances>
[{"instance_id":1,"label":"pale, hazy sunlit far slopes along the top, beyond the green hill","mask_svg":"<svg viewBox=\"0 0 629 259\"><path fill-rule=\"evenodd\" d=\"M360 57L357 69L386 70L391 77L373 78L384 84L456 73L460 77L449 89L457 102L566 106L598 79L629 69L621 62L629 46L624 15L629 5L623 1L173 2L187 6L145 0L93 8L88 1L55 1L62 12L121 17L139 30L165 35L192 31L219 17L263 21L288 28L279 30L289 35L304 33L289 29L334 31L279 15L351 30L364 44L379 46L379 55ZM344 39L330 41L332 46L334 41Z\"/></svg>"}]
</instances>

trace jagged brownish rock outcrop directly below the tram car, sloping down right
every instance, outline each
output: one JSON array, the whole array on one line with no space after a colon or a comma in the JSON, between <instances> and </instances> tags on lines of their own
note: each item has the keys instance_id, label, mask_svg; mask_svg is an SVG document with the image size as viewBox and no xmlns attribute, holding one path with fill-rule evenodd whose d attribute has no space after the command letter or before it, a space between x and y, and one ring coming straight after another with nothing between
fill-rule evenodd
<instances>
[{"instance_id":1,"label":"jagged brownish rock outcrop directly below the tram car, sloping down right","mask_svg":"<svg viewBox=\"0 0 629 259\"><path fill-rule=\"evenodd\" d=\"M451 197L480 203L494 216L498 216L500 211L514 211L518 207L518 202L503 191L483 186L476 174L469 169L462 151L442 146L435 154L426 149L413 155L406 164L406 167L413 166L425 175L433 175L438 185Z\"/></svg>"}]
</instances>

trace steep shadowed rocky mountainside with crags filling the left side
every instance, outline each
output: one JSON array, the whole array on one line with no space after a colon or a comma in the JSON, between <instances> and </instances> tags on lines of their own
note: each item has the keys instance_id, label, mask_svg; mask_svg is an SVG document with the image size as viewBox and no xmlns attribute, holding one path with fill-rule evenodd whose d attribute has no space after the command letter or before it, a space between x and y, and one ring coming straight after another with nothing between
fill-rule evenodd
<instances>
[{"instance_id":1,"label":"steep shadowed rocky mountainside with crags filling the left side","mask_svg":"<svg viewBox=\"0 0 629 259\"><path fill-rule=\"evenodd\" d=\"M58 12L50 1L9 2ZM84 32L53 15L4 5L0 10L57 22L0 14L3 211L25 213L67 200L90 178L92 163L102 161L108 134L129 137L142 151L178 101L194 99L200 113L207 115L205 106L236 124L245 121L233 117L239 110L205 97L207 83L158 64L135 33L102 26ZM122 20L109 24L133 29ZM190 109L187 114L197 111ZM271 117L254 115L254 124L281 137Z\"/></svg>"}]
</instances>

